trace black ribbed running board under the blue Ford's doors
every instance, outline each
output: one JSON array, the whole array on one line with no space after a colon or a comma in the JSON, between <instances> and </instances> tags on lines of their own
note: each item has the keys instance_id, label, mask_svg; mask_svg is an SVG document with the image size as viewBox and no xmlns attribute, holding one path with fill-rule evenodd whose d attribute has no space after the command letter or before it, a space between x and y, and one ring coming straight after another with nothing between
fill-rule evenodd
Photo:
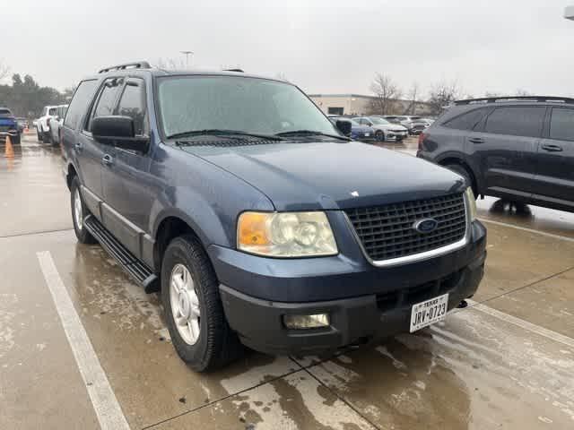
<instances>
[{"instance_id":1,"label":"black ribbed running board under the blue Ford's doors","mask_svg":"<svg viewBox=\"0 0 574 430\"><path fill-rule=\"evenodd\" d=\"M110 254L126 273L143 287L146 293L160 291L160 280L155 273L134 254L127 250L126 246L119 243L116 237L96 219L88 215L83 219L83 226L91 236L100 242L108 254Z\"/></svg>"}]
</instances>

